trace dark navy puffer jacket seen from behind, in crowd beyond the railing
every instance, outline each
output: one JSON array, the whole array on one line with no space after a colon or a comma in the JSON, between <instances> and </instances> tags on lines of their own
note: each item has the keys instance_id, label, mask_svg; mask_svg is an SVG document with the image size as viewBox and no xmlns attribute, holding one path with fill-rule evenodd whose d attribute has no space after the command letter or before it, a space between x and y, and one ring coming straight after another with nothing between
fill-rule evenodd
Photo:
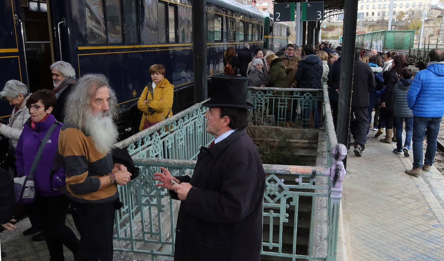
<instances>
[{"instance_id":1,"label":"dark navy puffer jacket seen from behind, in crowd beyond the railing","mask_svg":"<svg viewBox=\"0 0 444 261\"><path fill-rule=\"evenodd\" d=\"M295 80L297 88L321 89L322 61L314 54L299 61Z\"/></svg>"}]
</instances>

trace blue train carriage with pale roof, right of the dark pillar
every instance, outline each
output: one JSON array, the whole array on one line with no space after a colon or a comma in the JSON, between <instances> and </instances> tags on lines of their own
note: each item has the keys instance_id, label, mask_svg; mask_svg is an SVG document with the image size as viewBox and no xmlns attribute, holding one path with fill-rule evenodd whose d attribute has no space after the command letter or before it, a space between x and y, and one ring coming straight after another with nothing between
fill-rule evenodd
<instances>
[{"instance_id":1,"label":"blue train carriage with pale roof, right of the dark pillar","mask_svg":"<svg viewBox=\"0 0 444 261\"><path fill-rule=\"evenodd\" d=\"M207 0L208 75L223 73L226 48L239 53L245 43L250 50L263 48L264 20L251 5L234 0Z\"/></svg>"}]
</instances>

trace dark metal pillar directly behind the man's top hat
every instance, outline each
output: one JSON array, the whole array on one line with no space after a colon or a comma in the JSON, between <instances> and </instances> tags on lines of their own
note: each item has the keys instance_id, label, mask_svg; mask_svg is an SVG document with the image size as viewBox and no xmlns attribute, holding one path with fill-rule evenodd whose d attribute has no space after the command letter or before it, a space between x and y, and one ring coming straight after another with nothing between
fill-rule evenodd
<instances>
[{"instance_id":1,"label":"dark metal pillar directly behind the man's top hat","mask_svg":"<svg viewBox=\"0 0 444 261\"><path fill-rule=\"evenodd\" d=\"M194 103L208 97L206 0L192 0Z\"/></svg>"}]
</instances>

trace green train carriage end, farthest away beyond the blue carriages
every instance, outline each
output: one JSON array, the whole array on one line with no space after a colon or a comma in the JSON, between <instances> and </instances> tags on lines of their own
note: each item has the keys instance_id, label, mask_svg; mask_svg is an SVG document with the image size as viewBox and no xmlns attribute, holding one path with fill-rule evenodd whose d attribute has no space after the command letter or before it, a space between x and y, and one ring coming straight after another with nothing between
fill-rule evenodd
<instances>
[{"instance_id":1,"label":"green train carriage end, farthest away beyond the blue carriages","mask_svg":"<svg viewBox=\"0 0 444 261\"><path fill-rule=\"evenodd\" d=\"M274 22L272 18L265 16L264 25L264 46L267 50L277 52L286 48L288 37L290 36L290 27L281 22Z\"/></svg>"}]
</instances>

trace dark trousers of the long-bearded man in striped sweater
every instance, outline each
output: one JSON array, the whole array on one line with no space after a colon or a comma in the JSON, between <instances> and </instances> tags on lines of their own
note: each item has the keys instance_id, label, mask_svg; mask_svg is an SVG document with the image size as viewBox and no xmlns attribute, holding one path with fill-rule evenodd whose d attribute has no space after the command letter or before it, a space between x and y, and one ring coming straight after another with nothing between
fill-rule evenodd
<instances>
[{"instance_id":1,"label":"dark trousers of the long-bearded man in striped sweater","mask_svg":"<svg viewBox=\"0 0 444 261\"><path fill-rule=\"evenodd\" d=\"M71 202L75 227L80 233L80 260L112 261L114 202Z\"/></svg>"}]
</instances>

